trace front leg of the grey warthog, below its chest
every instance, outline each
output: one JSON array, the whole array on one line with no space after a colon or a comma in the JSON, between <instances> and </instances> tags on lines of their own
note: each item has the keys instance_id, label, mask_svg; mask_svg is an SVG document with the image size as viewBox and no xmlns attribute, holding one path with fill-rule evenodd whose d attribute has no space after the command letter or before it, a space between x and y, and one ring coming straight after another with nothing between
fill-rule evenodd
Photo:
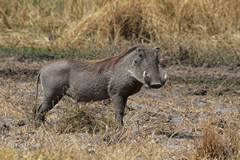
<instances>
[{"instance_id":1,"label":"front leg of the grey warthog, below its chest","mask_svg":"<svg viewBox=\"0 0 240 160\"><path fill-rule=\"evenodd\" d=\"M119 96L119 95L114 95L112 96L112 102L115 108L115 118L118 123L118 127L123 127L123 116L125 112L125 106L127 103L127 98Z\"/></svg>"}]
</instances>

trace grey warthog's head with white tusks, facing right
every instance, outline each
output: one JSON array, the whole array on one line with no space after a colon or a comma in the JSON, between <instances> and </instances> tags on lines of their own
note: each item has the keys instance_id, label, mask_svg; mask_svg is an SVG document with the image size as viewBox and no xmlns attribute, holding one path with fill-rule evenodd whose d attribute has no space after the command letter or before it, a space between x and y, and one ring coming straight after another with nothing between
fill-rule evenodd
<instances>
[{"instance_id":1,"label":"grey warthog's head with white tusks, facing right","mask_svg":"<svg viewBox=\"0 0 240 160\"><path fill-rule=\"evenodd\" d=\"M139 47L133 54L132 64L128 72L145 87L160 88L167 79L166 72L159 65L160 48Z\"/></svg>"}]
</instances>

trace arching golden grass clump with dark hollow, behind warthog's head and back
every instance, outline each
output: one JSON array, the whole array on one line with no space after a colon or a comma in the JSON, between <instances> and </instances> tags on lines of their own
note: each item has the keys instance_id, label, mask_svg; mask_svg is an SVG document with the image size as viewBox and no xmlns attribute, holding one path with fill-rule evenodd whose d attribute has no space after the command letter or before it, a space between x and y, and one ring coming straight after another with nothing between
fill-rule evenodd
<instances>
[{"instance_id":1,"label":"arching golden grass clump with dark hollow, behind warthog's head and back","mask_svg":"<svg viewBox=\"0 0 240 160\"><path fill-rule=\"evenodd\" d=\"M122 40L150 41L144 18L145 1L112 1L68 28L58 43L106 46Z\"/></svg>"}]
</instances>

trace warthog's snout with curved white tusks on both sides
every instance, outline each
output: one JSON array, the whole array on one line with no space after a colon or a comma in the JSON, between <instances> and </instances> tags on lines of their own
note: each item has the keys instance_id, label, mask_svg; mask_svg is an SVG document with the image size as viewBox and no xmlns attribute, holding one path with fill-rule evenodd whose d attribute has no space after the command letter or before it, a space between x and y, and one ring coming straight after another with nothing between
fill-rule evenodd
<instances>
[{"instance_id":1,"label":"warthog's snout with curved white tusks on both sides","mask_svg":"<svg viewBox=\"0 0 240 160\"><path fill-rule=\"evenodd\" d=\"M150 88L158 89L161 88L167 80L167 74L164 73L164 76L161 77L159 74L148 74L146 71L143 72L143 77L146 82L146 84Z\"/></svg>"}]
</instances>

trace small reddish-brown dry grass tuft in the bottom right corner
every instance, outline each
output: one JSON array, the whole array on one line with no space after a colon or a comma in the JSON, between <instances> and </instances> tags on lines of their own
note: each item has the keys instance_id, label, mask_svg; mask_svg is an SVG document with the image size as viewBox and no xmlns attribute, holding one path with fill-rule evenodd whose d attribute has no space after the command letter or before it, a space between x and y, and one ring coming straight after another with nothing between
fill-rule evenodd
<instances>
[{"instance_id":1,"label":"small reddish-brown dry grass tuft in the bottom right corner","mask_svg":"<svg viewBox=\"0 0 240 160\"><path fill-rule=\"evenodd\" d=\"M203 128L202 138L196 143L195 159L237 159L240 153L240 137L231 128L221 135L209 124Z\"/></svg>"}]
</instances>

